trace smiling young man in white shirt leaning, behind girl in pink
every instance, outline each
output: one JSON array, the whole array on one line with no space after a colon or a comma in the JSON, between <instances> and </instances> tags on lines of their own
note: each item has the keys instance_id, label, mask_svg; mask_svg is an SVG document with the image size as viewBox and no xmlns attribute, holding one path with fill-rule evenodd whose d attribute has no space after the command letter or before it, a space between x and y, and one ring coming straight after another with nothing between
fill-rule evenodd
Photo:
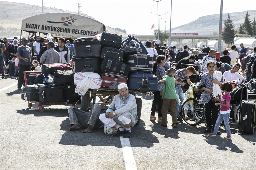
<instances>
[{"instance_id":1,"label":"smiling young man in white shirt leaning, behind girl in pink","mask_svg":"<svg viewBox=\"0 0 256 170\"><path fill-rule=\"evenodd\" d=\"M239 63L235 63L232 66L232 69L229 71L225 71L223 73L224 81L237 81L237 84L240 84L244 77L240 75L237 71L240 69L241 65Z\"/></svg>"}]
</instances>

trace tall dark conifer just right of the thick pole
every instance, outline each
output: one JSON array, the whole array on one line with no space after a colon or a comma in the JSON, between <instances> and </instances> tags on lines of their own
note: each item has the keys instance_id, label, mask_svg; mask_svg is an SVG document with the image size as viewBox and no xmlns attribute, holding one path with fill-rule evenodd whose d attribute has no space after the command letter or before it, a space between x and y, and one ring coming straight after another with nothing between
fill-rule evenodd
<instances>
[{"instance_id":1,"label":"tall dark conifer just right of the thick pole","mask_svg":"<svg viewBox=\"0 0 256 170\"><path fill-rule=\"evenodd\" d=\"M230 20L230 16L228 14L228 19L224 21L224 32L222 33L223 40L226 42L226 44L230 44L231 41L234 40L235 37L235 30L233 21Z\"/></svg>"}]
</instances>

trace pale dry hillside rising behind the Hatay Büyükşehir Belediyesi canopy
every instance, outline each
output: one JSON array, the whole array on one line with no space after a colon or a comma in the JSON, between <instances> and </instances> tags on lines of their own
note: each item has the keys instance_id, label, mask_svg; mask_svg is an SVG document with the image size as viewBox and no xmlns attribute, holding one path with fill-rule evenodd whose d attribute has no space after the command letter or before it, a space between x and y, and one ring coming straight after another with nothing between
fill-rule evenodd
<instances>
[{"instance_id":1,"label":"pale dry hillside rising behind the Hatay B\u00fcy\u00fck\u015fehir Belediyesi canopy","mask_svg":"<svg viewBox=\"0 0 256 170\"><path fill-rule=\"evenodd\" d=\"M26 12L19 12L16 14L13 14L13 9L26 9ZM47 8L44 7L44 13L50 13L50 12L65 12L65 13L71 13L71 14L77 14L76 12L71 12L67 10L61 10L57 8ZM21 22L22 19L28 18L30 16L38 15L42 13L42 7L38 5L28 5L23 3L16 3L16 2L5 2L0 1L0 37L14 37L17 35L20 35L20 28L21 28ZM86 16L88 18L92 18L91 16L88 16L87 14L81 14L82 16ZM127 36L127 34L122 33L120 31L117 31L111 27L108 27L105 25L107 30L110 33L116 33L118 35ZM28 36L28 33L22 32L22 36Z\"/></svg>"}]
</instances>

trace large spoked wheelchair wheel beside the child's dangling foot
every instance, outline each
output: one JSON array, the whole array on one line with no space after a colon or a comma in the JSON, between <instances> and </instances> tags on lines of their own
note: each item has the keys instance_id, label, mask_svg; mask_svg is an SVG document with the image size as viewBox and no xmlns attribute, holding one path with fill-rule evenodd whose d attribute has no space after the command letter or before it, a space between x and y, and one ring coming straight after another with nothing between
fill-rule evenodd
<instances>
[{"instance_id":1,"label":"large spoked wheelchair wheel beside the child's dangling foot","mask_svg":"<svg viewBox=\"0 0 256 170\"><path fill-rule=\"evenodd\" d=\"M187 120L185 119L185 112L187 112ZM199 104L196 98L187 99L181 106L181 115L184 122L191 126L201 124L205 119L205 105Z\"/></svg>"}]
</instances>

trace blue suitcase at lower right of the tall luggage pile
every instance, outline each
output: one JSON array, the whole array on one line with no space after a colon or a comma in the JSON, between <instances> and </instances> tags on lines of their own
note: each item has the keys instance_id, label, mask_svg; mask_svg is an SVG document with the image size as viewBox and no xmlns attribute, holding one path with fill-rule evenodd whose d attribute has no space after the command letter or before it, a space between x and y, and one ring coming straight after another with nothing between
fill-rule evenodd
<instances>
[{"instance_id":1,"label":"blue suitcase at lower right of the tall luggage pile","mask_svg":"<svg viewBox=\"0 0 256 170\"><path fill-rule=\"evenodd\" d=\"M150 73L131 73L128 76L127 86L129 90L139 92L153 92L157 90L158 78Z\"/></svg>"}]
</instances>

